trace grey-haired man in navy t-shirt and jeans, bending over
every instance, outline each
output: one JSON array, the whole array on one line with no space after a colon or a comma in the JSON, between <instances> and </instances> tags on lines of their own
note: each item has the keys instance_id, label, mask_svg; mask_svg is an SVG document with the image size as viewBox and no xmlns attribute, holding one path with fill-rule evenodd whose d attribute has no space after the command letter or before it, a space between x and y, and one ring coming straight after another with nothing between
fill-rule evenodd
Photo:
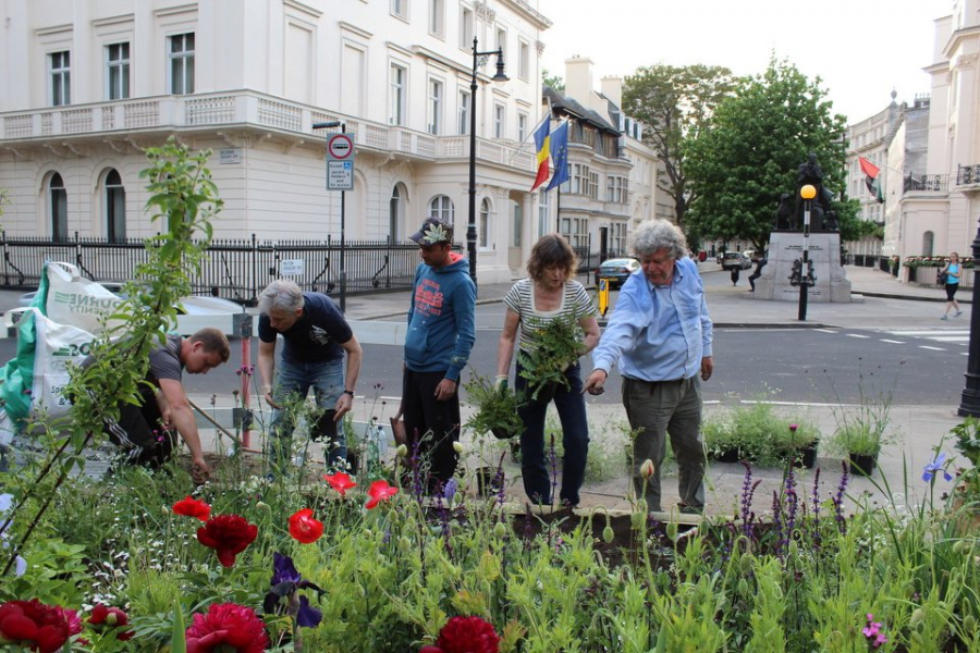
<instances>
[{"instance_id":1,"label":"grey-haired man in navy t-shirt and jeans, bending over","mask_svg":"<svg viewBox=\"0 0 980 653\"><path fill-rule=\"evenodd\" d=\"M313 387L322 415L310 427L317 442L327 444L327 465L345 469L347 443L338 422L351 410L360 373L362 349L351 325L333 300L320 293L304 293L287 280L270 283L258 300L258 368L262 394L274 409L269 457L273 465L289 459L294 423L281 410L290 395L305 399ZM275 338L282 335L279 379L273 383ZM343 359L347 355L346 379Z\"/></svg>"}]
</instances>

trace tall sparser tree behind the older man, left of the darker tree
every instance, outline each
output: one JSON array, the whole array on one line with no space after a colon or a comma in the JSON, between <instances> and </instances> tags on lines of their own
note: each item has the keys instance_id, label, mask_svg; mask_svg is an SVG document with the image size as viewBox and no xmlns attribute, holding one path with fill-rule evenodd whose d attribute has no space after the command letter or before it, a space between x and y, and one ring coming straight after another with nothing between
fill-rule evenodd
<instances>
[{"instance_id":1,"label":"tall sparser tree behind the older man, left of the darker tree","mask_svg":"<svg viewBox=\"0 0 980 653\"><path fill-rule=\"evenodd\" d=\"M687 145L705 130L733 87L732 71L726 67L658 64L637 69L623 88L623 109L645 123L644 143L663 163L657 185L674 200L677 223L684 224L689 236L695 234L684 215L699 189L685 167Z\"/></svg>"}]
</instances>

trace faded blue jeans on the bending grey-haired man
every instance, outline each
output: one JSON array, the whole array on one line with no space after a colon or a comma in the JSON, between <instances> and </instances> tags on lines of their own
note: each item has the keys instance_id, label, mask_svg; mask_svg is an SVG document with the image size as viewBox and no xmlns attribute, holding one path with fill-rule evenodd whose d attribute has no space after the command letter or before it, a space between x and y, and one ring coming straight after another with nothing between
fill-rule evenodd
<instances>
[{"instance_id":1,"label":"faded blue jeans on the bending grey-haired man","mask_svg":"<svg viewBox=\"0 0 980 653\"><path fill-rule=\"evenodd\" d=\"M334 406L344 392L344 359L327 361L279 361L279 379L272 390L272 399L283 405L291 395L306 398L313 387L317 407L322 414L309 424L309 434L316 442L327 444L327 466L346 469L347 440L343 428L338 429L333 421ZM272 410L269 441L269 461L273 466L282 466L289 461L292 449L293 429L296 428L295 416L289 410Z\"/></svg>"}]
</instances>

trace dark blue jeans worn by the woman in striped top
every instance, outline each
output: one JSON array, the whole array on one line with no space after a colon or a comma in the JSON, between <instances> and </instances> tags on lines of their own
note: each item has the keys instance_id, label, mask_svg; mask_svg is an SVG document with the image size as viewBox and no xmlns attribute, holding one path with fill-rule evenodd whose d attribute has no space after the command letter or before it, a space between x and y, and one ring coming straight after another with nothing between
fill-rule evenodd
<instances>
[{"instance_id":1,"label":"dark blue jeans worn by the woman in striped top","mask_svg":"<svg viewBox=\"0 0 980 653\"><path fill-rule=\"evenodd\" d=\"M523 368L517 364L514 391L520 397L527 387L527 380L520 375ZM565 370L565 379L571 387L559 387L554 393L554 407L562 422L562 446L565 449L562 461L562 502L573 506L579 503L578 490L585 479L586 459L589 454L589 423L586 416L585 398L581 396L581 367L576 362ZM529 393L528 393L529 394ZM550 403L550 402L549 402ZM551 496L551 452L544 442L544 417L548 403L531 401L528 396L517 408L517 416L524 421L520 433L520 473L524 477L524 492L535 503L550 504ZM554 461L558 466L558 461Z\"/></svg>"}]
</instances>

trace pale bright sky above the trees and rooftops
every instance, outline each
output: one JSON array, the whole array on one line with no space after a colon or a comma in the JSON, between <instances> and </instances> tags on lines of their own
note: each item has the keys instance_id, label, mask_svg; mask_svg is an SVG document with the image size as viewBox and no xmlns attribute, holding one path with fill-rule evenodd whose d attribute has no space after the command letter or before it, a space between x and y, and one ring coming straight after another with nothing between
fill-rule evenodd
<instances>
[{"instance_id":1,"label":"pale bright sky above the trees and rooftops","mask_svg":"<svg viewBox=\"0 0 980 653\"><path fill-rule=\"evenodd\" d=\"M552 23L541 33L542 65L565 76L586 57L593 79L666 63L765 70L770 56L820 76L834 111L856 123L891 102L930 91L933 21L953 0L528 0Z\"/></svg>"}]
</instances>

